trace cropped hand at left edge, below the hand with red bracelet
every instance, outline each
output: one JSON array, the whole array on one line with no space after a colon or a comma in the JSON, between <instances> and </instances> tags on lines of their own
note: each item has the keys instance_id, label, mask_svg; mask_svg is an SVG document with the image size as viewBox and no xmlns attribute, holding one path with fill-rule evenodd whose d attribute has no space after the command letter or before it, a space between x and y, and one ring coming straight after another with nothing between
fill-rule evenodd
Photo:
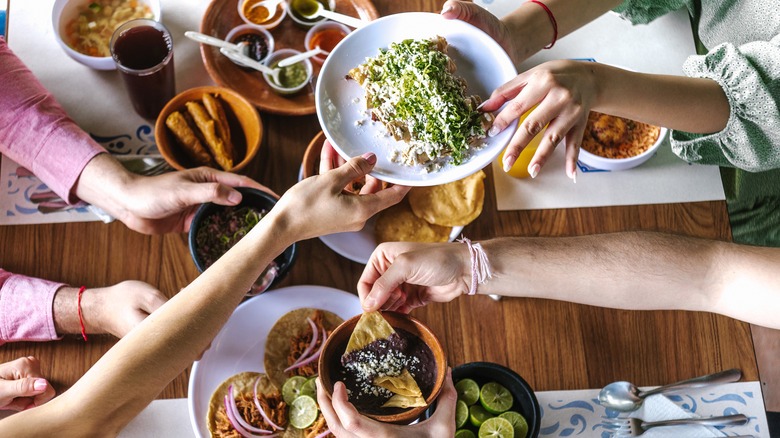
<instances>
[{"instance_id":1,"label":"cropped hand at left edge, below the hand with red bracelet","mask_svg":"<svg viewBox=\"0 0 780 438\"><path fill-rule=\"evenodd\" d=\"M38 359L28 356L0 364L0 410L23 411L54 397Z\"/></svg>"}]
</instances>

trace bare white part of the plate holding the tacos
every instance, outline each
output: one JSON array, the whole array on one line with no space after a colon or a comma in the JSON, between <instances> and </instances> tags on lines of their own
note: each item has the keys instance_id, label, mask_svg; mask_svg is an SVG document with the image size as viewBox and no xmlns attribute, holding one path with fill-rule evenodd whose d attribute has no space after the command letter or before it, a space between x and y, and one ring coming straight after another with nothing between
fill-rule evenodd
<instances>
[{"instance_id":1,"label":"bare white part of the plate holding the tacos","mask_svg":"<svg viewBox=\"0 0 780 438\"><path fill-rule=\"evenodd\" d=\"M206 414L214 390L236 373L264 372L268 332L282 315L301 307L329 310L344 319L362 312L357 295L324 286L274 289L238 306L211 348L192 366L187 405L192 430L198 436L210 436Z\"/></svg>"}]
</instances>

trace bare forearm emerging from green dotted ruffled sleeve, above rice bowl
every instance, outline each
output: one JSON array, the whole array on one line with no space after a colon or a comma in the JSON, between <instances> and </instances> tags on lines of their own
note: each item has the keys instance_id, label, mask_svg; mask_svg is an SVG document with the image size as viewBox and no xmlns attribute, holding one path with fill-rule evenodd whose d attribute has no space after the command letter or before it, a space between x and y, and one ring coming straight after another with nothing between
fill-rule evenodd
<instances>
[{"instance_id":1,"label":"bare forearm emerging from green dotted ruffled sleeve, above rice bowl","mask_svg":"<svg viewBox=\"0 0 780 438\"><path fill-rule=\"evenodd\" d=\"M713 80L584 64L596 76L596 111L693 133L718 132L726 127L729 102Z\"/></svg>"}]
</instances>

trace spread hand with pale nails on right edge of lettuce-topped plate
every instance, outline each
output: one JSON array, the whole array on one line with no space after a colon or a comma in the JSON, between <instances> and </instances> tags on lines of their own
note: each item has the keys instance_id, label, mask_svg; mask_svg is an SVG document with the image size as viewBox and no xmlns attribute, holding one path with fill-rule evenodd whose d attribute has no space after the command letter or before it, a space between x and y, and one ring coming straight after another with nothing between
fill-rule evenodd
<instances>
[{"instance_id":1,"label":"spread hand with pale nails on right edge of lettuce-topped plate","mask_svg":"<svg viewBox=\"0 0 780 438\"><path fill-rule=\"evenodd\" d=\"M577 61L550 61L534 67L497 88L482 105L483 111L497 111L488 131L495 136L526 112L533 110L518 127L504 153L508 172L525 146L546 128L528 173L536 177L552 156L555 146L566 139L565 171L576 181L576 163L588 113L598 99L597 64ZM535 107L535 108L534 108Z\"/></svg>"}]
</instances>

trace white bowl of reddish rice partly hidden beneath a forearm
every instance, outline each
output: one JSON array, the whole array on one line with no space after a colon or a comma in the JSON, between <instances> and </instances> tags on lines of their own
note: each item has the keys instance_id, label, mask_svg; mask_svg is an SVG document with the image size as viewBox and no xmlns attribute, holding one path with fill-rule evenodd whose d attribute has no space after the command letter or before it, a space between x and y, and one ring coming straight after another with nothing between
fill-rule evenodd
<instances>
[{"instance_id":1,"label":"white bowl of reddish rice partly hidden beneath a forearm","mask_svg":"<svg viewBox=\"0 0 780 438\"><path fill-rule=\"evenodd\" d=\"M591 111L579 160L594 169L631 169L652 158L667 133L666 128Z\"/></svg>"}]
</instances>

